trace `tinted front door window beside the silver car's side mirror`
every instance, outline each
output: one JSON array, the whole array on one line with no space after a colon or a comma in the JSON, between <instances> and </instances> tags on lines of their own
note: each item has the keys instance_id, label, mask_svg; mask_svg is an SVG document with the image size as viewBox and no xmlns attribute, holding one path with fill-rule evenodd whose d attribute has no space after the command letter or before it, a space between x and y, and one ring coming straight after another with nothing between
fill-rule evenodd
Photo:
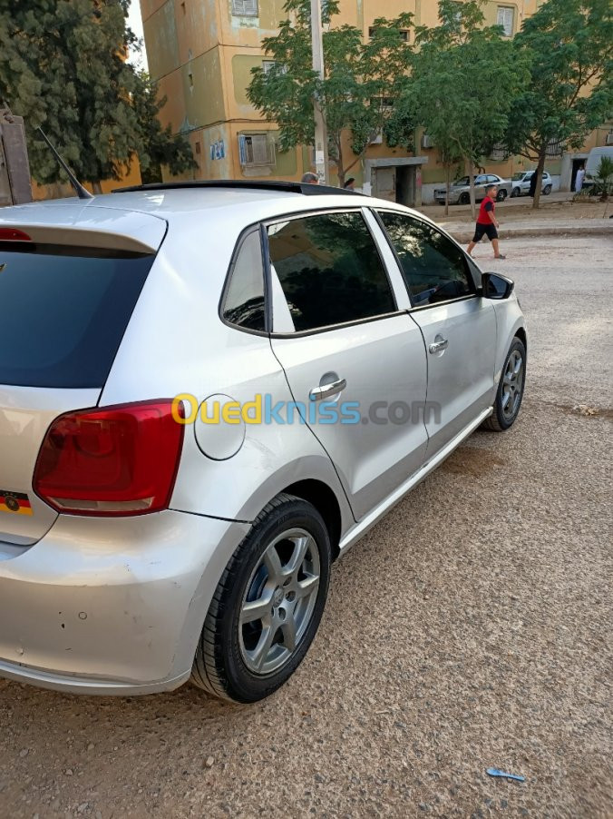
<instances>
[{"instance_id":1,"label":"tinted front door window beside the silver car's side mirror","mask_svg":"<svg viewBox=\"0 0 613 819\"><path fill-rule=\"evenodd\" d=\"M415 307L474 292L464 254L443 233L402 213L379 215L400 259Z\"/></svg>"}]
</instances>

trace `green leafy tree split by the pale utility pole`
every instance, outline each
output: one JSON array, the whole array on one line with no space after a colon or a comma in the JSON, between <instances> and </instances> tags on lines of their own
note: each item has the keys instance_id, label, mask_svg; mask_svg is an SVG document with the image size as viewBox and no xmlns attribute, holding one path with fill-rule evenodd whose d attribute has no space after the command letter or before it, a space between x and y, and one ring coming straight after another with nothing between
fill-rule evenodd
<instances>
[{"instance_id":1,"label":"green leafy tree split by the pale utility pole","mask_svg":"<svg viewBox=\"0 0 613 819\"><path fill-rule=\"evenodd\" d=\"M279 32L262 41L275 65L268 73L252 69L249 101L279 127L282 150L312 144L315 133L314 100L326 118L330 158L336 162L338 181L358 163L376 134L384 129L393 102L407 81L412 47L404 41L403 30L412 15L394 20L375 20L375 32L367 43L352 25L324 31L324 79L313 71L309 0L287 0L286 19ZM323 22L338 14L338 0L328 0ZM343 138L349 133L351 153L344 151Z\"/></svg>"}]
</instances>

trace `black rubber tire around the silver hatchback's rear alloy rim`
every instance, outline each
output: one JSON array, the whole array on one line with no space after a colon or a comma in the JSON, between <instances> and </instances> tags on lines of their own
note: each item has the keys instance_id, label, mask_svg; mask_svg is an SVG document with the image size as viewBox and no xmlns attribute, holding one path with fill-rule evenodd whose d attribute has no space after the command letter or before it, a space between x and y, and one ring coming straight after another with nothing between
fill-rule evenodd
<instances>
[{"instance_id":1,"label":"black rubber tire around the silver hatchback's rear alloy rim","mask_svg":"<svg viewBox=\"0 0 613 819\"><path fill-rule=\"evenodd\" d=\"M316 549L319 582L316 590L314 589L308 597L309 606L312 605L313 608L308 613L308 617L305 617L304 633L297 639L296 646L291 651L284 645L285 633L281 632L280 627L277 627L275 639L278 636L278 642L268 649L267 656L270 650L277 650L277 653L280 651L281 654L289 651L287 660L271 673L255 673L248 666L249 656L245 650L245 629L254 627L254 623L258 623L258 626L261 627L260 635L253 637L249 634L248 636L249 639L258 642L258 639L264 636L265 628L263 620L241 626L241 612L247 601L254 599L248 595L256 582L259 583L258 595L264 591L267 584L269 585L269 577L266 576L268 569L262 562L263 556L269 548L277 548L273 545L276 538L291 530L305 531L310 538L308 542L311 543L312 540L313 543L312 546L309 546L309 550ZM283 547L287 548L290 543L289 539L282 539L278 543L281 548L280 567L286 565L283 564ZM309 554L310 551L307 552L307 555ZM313 560L316 559L315 555L310 556ZM194 657L191 682L213 696L238 703L257 702L282 686L296 671L316 635L326 605L330 564L330 538L326 524L316 508L302 498L286 494L277 495L277 498L271 500L260 512L254 521L253 528L238 546L219 580ZM304 565L304 563L300 564L300 566ZM287 566L289 566L289 558ZM257 573L261 573L262 570L264 578L260 577L258 580ZM298 572L296 576L297 574ZM277 616L280 615L280 609L284 605L291 606L286 603L291 592L284 597L285 589L277 587L274 595L279 592L281 602L270 604L278 607L271 609L273 613L277 612ZM296 609L300 605L302 604L297 603ZM293 617L289 616L288 619L293 620Z\"/></svg>"}]
</instances>

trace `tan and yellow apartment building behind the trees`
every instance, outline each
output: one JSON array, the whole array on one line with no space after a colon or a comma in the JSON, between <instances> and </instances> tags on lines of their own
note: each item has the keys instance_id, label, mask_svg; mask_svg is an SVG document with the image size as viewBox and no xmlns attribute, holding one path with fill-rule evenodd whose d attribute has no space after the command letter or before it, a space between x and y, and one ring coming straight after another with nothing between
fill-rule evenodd
<instances>
[{"instance_id":1,"label":"tan and yellow apartment building behind the trees","mask_svg":"<svg viewBox=\"0 0 613 819\"><path fill-rule=\"evenodd\" d=\"M486 21L513 36L525 16L542 0L490 0ZM308 146L282 153L278 131L248 102L251 68L267 60L264 37L277 33L286 14L284 0L141 0L141 15L151 76L168 98L161 115L173 132L190 139L198 169L196 179L299 180L313 168ZM341 0L333 25L355 25L369 36L376 17L414 15L414 25L437 25L437 0ZM414 33L407 32L412 38ZM608 129L607 129L608 130ZM553 156L547 169L558 187L569 188L573 171L592 144L604 144L606 133L594 133L585 151ZM366 191L409 205L433 201L433 189L444 181L443 167L427 134L418 134L416 152L389 148L378 140L351 171ZM491 173L528 170L527 160L492 156ZM334 167L331 167L334 183Z\"/></svg>"}]
</instances>

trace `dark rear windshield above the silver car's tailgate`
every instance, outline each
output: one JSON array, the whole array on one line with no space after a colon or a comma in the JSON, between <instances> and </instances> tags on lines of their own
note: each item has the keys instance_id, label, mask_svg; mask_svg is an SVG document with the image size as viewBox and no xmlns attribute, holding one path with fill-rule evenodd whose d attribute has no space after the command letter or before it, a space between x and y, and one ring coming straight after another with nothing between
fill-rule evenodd
<instances>
[{"instance_id":1,"label":"dark rear windshield above the silver car's tailgate","mask_svg":"<svg viewBox=\"0 0 613 819\"><path fill-rule=\"evenodd\" d=\"M0 384L102 387L153 259L0 242Z\"/></svg>"}]
</instances>

